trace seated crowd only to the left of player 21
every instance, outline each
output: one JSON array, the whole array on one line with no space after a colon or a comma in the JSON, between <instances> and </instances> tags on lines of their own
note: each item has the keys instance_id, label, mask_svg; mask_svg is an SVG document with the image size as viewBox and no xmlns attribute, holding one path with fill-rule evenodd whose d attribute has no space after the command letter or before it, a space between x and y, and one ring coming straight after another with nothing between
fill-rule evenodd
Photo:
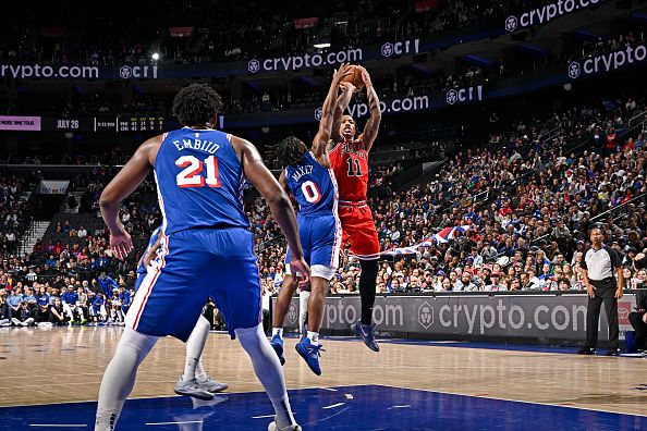
<instances>
[{"instance_id":1,"label":"seated crowd only to the left of player 21","mask_svg":"<svg viewBox=\"0 0 647 431\"><path fill-rule=\"evenodd\" d=\"M84 224L60 219L32 253L0 251L0 325L123 324L139 256L120 261L109 247L98 198L114 173L97 167L73 181L73 187L85 189L76 202L83 216L76 220ZM141 255L150 232L161 223L152 181L124 201L121 221Z\"/></svg>"}]
</instances>

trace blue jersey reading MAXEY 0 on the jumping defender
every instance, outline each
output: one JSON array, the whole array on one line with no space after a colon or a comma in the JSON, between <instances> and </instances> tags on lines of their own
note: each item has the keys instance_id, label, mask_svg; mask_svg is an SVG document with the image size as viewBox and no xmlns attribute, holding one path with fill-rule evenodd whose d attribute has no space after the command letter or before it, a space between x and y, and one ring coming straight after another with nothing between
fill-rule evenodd
<instances>
[{"instance_id":1,"label":"blue jersey reading MAXEY 0 on the jumping defender","mask_svg":"<svg viewBox=\"0 0 647 431\"><path fill-rule=\"evenodd\" d=\"M330 169L324 168L312 151L303 155L297 167L285 168L288 187L298 202L300 216L326 211L337 213L337 181Z\"/></svg>"}]
</instances>

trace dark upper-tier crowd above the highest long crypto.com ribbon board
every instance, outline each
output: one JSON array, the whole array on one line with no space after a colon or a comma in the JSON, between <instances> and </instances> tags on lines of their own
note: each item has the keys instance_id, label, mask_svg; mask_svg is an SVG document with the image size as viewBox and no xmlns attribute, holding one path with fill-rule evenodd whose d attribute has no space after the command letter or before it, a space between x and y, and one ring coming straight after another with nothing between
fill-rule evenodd
<instances>
[{"instance_id":1,"label":"dark upper-tier crowd above the highest long crypto.com ribbon board","mask_svg":"<svg viewBox=\"0 0 647 431\"><path fill-rule=\"evenodd\" d=\"M158 5L164 10L163 16L155 17L137 5L129 13L118 8L91 15L82 15L78 8L64 8L70 12L65 16L59 10L38 15L25 11L26 5L14 4L8 16L24 16L27 26L7 23L0 60L119 65L150 63L154 51L161 54L160 61L182 63L248 59L270 52L303 53L312 50L313 38L333 37L333 23L343 24L343 46L357 47L455 30L484 20L491 23L510 9L508 2L493 0L425 3L429 4L416 8L408 0L337 1L325 7L306 1L163 1ZM75 28L81 16L86 29L78 33ZM294 24L313 16L318 21L312 27L297 28ZM110 25L120 32L105 32ZM171 27L180 29L172 32Z\"/></svg>"}]
</instances>

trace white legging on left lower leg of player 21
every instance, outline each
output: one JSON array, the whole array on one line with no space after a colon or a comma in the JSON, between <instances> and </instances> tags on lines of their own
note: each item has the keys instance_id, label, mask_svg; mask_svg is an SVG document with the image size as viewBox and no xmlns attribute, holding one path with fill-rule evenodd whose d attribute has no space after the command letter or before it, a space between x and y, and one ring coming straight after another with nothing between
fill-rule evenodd
<instances>
[{"instance_id":1,"label":"white legging on left lower leg of player 21","mask_svg":"<svg viewBox=\"0 0 647 431\"><path fill-rule=\"evenodd\" d=\"M95 431L114 429L123 403L135 384L137 367L156 342L157 336L142 334L130 327L124 329L114 357L108 364L101 380Z\"/></svg>"}]
</instances>

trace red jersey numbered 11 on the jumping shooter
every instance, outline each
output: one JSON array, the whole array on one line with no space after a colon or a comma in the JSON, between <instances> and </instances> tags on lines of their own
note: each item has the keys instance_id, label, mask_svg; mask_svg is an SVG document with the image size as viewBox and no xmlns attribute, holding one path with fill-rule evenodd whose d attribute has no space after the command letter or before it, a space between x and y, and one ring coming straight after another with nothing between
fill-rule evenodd
<instances>
[{"instance_id":1,"label":"red jersey numbered 11 on the jumping shooter","mask_svg":"<svg viewBox=\"0 0 647 431\"><path fill-rule=\"evenodd\" d=\"M342 140L328 151L330 167L337 178L339 199L366 200L368 187L368 151L362 140Z\"/></svg>"}]
</instances>

